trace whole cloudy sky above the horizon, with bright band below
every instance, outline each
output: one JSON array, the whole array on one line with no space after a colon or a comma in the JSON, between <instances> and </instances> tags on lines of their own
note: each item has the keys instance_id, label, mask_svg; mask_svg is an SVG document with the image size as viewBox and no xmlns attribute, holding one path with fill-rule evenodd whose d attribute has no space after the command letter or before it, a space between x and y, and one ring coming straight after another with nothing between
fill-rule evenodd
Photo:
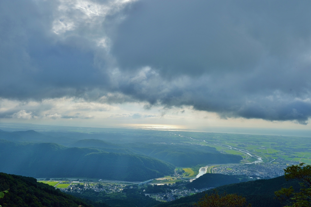
<instances>
[{"instance_id":1,"label":"whole cloudy sky above the horizon, with bright band below","mask_svg":"<svg viewBox=\"0 0 311 207\"><path fill-rule=\"evenodd\" d=\"M311 130L311 2L0 1L0 121Z\"/></svg>"}]
</instances>

